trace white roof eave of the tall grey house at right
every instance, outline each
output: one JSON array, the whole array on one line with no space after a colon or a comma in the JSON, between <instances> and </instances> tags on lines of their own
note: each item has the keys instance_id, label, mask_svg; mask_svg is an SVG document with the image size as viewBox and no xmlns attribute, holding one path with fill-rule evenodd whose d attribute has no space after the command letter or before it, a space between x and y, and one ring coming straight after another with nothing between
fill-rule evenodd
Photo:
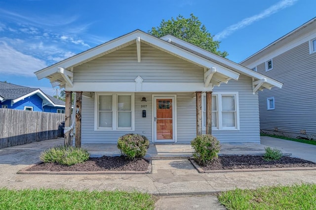
<instances>
[{"instance_id":1,"label":"white roof eave of the tall grey house at right","mask_svg":"<svg viewBox=\"0 0 316 210\"><path fill-rule=\"evenodd\" d=\"M313 30L314 35L312 34ZM248 66L249 64L263 58L263 56L279 50L280 48L284 48L283 51L289 50L289 47L285 46L286 44L292 42L292 46L290 48L293 48L301 44L301 42L308 41L310 35L312 35L314 38L316 37L316 17L294 29L293 31L287 33L286 35L283 35L282 37L276 39L276 41L249 56L245 60L241 61L239 64ZM278 54L281 54L283 51L280 51Z\"/></svg>"}]
</instances>

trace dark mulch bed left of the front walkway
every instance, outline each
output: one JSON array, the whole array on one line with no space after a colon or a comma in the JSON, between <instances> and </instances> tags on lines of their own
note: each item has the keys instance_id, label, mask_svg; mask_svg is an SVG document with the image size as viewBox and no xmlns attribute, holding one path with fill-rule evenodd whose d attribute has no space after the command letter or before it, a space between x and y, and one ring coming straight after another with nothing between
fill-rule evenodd
<instances>
[{"instance_id":1,"label":"dark mulch bed left of the front walkway","mask_svg":"<svg viewBox=\"0 0 316 210\"><path fill-rule=\"evenodd\" d=\"M84 163L72 166L64 166L57 163L39 163L27 171L51 171L51 172L96 172L96 171L136 171L142 172L148 169L149 161L143 158L129 160L124 156L103 156L89 158Z\"/></svg>"}]
</instances>

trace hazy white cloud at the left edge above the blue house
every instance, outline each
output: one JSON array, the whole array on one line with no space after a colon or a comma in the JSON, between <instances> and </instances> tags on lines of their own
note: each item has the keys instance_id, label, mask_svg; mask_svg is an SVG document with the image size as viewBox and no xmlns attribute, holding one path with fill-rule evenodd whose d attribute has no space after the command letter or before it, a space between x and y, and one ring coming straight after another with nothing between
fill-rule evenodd
<instances>
[{"instance_id":1,"label":"hazy white cloud at the left edge above the blue house","mask_svg":"<svg viewBox=\"0 0 316 210\"><path fill-rule=\"evenodd\" d=\"M4 41L0 41L0 61L0 74L27 77L34 76L35 71L47 66L44 61L19 52Z\"/></svg>"}]
</instances>

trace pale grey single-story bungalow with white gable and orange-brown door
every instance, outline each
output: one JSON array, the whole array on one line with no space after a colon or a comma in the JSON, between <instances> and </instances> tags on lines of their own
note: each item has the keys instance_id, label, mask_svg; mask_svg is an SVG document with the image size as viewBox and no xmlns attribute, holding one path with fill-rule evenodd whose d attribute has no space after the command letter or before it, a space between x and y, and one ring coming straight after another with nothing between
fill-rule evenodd
<instances>
[{"instance_id":1,"label":"pale grey single-story bungalow with white gable and orange-brown door","mask_svg":"<svg viewBox=\"0 0 316 210\"><path fill-rule=\"evenodd\" d=\"M189 143L203 133L259 143L257 92L282 86L171 35L139 30L35 74L65 88L66 127L76 92L77 145L116 143L127 133L153 143Z\"/></svg>"}]
</instances>

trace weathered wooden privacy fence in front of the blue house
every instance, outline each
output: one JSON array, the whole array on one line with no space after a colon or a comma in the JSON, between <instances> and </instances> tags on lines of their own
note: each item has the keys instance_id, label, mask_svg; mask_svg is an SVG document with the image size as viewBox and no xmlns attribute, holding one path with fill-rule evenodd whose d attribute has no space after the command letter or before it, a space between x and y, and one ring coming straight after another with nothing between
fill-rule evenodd
<instances>
[{"instance_id":1,"label":"weathered wooden privacy fence in front of the blue house","mask_svg":"<svg viewBox=\"0 0 316 210\"><path fill-rule=\"evenodd\" d=\"M0 148L60 137L65 114L0 108Z\"/></svg>"}]
</instances>

